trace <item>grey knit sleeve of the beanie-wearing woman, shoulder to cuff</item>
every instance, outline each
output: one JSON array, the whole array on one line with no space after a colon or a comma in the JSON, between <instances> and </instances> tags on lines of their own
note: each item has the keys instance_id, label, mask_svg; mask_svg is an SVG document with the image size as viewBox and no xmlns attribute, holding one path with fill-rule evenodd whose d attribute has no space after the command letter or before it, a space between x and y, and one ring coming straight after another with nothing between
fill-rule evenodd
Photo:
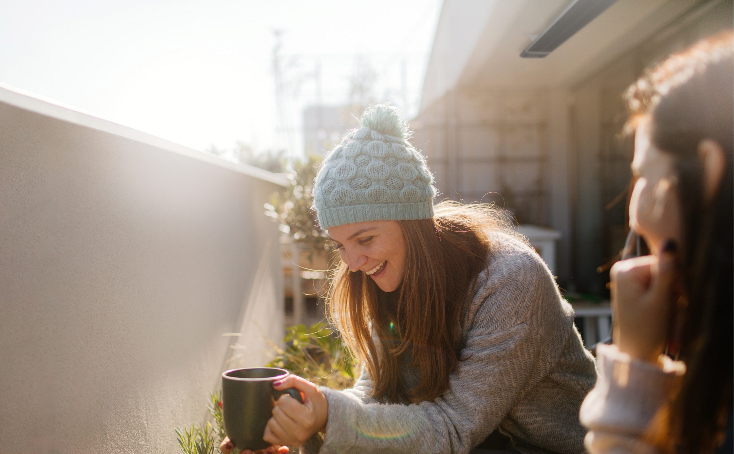
<instances>
[{"instance_id":1,"label":"grey knit sleeve of the beanie-wearing woman, shoulder to cuff","mask_svg":"<svg viewBox=\"0 0 734 454\"><path fill-rule=\"evenodd\" d=\"M462 361L449 389L435 400L404 405L322 388L329 416L319 453L462 454L498 427L553 361L545 354L552 350L544 346L548 339L530 319L548 315L542 307L562 311L558 300L547 300L558 297L545 265L516 257L509 262L490 267L493 278L482 283L473 301Z\"/></svg>"}]
</instances>

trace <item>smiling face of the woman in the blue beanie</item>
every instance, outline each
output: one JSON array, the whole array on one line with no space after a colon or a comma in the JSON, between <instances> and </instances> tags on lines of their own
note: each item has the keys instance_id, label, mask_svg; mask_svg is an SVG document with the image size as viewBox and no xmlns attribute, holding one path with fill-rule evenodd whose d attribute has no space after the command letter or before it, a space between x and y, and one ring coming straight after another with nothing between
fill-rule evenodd
<instances>
[{"instance_id":1,"label":"smiling face of the woman in the blue beanie","mask_svg":"<svg viewBox=\"0 0 734 454\"><path fill-rule=\"evenodd\" d=\"M406 246L398 221L345 224L330 228L328 233L350 271L369 275L383 292L400 286Z\"/></svg>"}]
</instances>

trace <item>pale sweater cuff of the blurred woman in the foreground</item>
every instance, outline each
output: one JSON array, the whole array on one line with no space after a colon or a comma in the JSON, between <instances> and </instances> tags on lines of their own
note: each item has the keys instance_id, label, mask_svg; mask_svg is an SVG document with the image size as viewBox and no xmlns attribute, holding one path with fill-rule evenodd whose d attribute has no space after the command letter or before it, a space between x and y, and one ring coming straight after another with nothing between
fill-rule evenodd
<instances>
[{"instance_id":1,"label":"pale sweater cuff of the blurred woman in the foreground","mask_svg":"<svg viewBox=\"0 0 734 454\"><path fill-rule=\"evenodd\" d=\"M589 428L591 454L658 451L646 431L685 372L680 361L661 357L657 365L620 353L615 345L597 349L597 384L581 406L581 423Z\"/></svg>"}]
</instances>

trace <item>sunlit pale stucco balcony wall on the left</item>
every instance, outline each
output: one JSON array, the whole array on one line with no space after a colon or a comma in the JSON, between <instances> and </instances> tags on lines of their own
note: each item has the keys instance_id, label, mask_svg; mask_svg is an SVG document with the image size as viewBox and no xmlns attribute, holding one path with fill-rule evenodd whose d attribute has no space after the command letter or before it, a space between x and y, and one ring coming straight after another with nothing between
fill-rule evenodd
<instances>
[{"instance_id":1,"label":"sunlit pale stucco balcony wall on the left","mask_svg":"<svg viewBox=\"0 0 734 454\"><path fill-rule=\"evenodd\" d=\"M0 88L0 453L176 453L283 334L278 176Z\"/></svg>"}]
</instances>

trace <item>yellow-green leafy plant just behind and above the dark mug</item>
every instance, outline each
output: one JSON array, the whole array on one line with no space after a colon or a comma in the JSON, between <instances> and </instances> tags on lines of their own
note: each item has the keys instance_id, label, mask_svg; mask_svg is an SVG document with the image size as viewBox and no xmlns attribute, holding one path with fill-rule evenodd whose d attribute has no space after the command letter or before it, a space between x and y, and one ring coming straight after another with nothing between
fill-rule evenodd
<instances>
[{"instance_id":1,"label":"yellow-green leafy plant just behind and above the dark mug","mask_svg":"<svg viewBox=\"0 0 734 454\"><path fill-rule=\"evenodd\" d=\"M355 381L355 357L327 323L294 325L283 338L285 348L273 345L277 356L269 367L281 367L332 389L344 389Z\"/></svg>"}]
</instances>

